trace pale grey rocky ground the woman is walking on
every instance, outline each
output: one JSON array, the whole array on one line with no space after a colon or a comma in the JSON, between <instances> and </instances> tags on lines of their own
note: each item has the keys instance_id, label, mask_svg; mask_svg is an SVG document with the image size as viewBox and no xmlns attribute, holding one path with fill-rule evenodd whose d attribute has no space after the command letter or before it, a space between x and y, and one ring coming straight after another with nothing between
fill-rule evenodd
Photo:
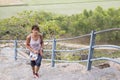
<instances>
[{"instance_id":1,"label":"pale grey rocky ground the woman is walking on","mask_svg":"<svg viewBox=\"0 0 120 80\"><path fill-rule=\"evenodd\" d=\"M1 57L14 55L11 48L2 49L0 54L0 80L119 80L120 69L115 67L86 71L86 66L79 63L57 63L54 68L50 63L42 62L39 71L41 77L34 79L31 67L26 61ZM115 66L115 64L113 64ZM120 65L118 65L120 67Z\"/></svg>"}]
</instances>

